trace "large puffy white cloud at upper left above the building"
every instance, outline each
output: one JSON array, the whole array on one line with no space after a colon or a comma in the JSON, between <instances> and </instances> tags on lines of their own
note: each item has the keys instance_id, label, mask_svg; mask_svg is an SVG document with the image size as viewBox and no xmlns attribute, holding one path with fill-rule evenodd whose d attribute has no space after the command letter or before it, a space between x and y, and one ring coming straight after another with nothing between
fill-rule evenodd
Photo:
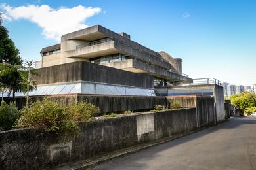
<instances>
[{"instance_id":1,"label":"large puffy white cloud at upper left above the building","mask_svg":"<svg viewBox=\"0 0 256 170\"><path fill-rule=\"evenodd\" d=\"M5 10L4 20L9 22L19 19L29 20L43 29L42 34L45 38L56 41L60 41L60 36L65 33L88 27L84 24L87 18L101 12L99 7L81 5L73 8L60 7L60 9L52 9L48 5L11 7L2 4L0 7Z\"/></svg>"}]
</instances>

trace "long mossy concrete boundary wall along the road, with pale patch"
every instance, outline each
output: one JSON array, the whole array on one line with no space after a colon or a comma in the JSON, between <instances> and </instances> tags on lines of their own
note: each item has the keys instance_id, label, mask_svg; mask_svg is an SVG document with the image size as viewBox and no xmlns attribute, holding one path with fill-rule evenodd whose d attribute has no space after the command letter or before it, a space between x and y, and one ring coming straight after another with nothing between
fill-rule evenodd
<instances>
[{"instance_id":1,"label":"long mossy concrete boundary wall along the road, with pale patch","mask_svg":"<svg viewBox=\"0 0 256 170\"><path fill-rule=\"evenodd\" d=\"M1 169L50 169L196 128L196 109L178 109L80 124L81 135L64 143L42 129L0 132Z\"/></svg>"}]
</instances>

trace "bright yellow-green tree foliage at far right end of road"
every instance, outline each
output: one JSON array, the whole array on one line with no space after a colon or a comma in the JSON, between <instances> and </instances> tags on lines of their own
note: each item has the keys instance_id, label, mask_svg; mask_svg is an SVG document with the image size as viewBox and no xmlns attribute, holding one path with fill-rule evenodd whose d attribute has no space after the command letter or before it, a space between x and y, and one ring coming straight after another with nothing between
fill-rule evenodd
<instances>
[{"instance_id":1,"label":"bright yellow-green tree foliage at far right end of road","mask_svg":"<svg viewBox=\"0 0 256 170\"><path fill-rule=\"evenodd\" d=\"M244 112L246 108L256 107L256 96L250 92L232 95L230 100L231 103L239 107L242 112Z\"/></svg>"}]
</instances>

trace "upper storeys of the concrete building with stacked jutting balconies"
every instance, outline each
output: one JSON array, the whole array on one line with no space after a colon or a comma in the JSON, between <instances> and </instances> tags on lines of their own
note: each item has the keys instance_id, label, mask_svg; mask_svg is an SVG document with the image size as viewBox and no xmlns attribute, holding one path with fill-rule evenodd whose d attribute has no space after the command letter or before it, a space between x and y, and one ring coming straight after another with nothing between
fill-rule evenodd
<instances>
[{"instance_id":1,"label":"upper storeys of the concrete building with stacked jutting balconies","mask_svg":"<svg viewBox=\"0 0 256 170\"><path fill-rule=\"evenodd\" d=\"M155 52L100 25L62 35L60 44L41 50L41 67L86 61L154 77L155 86L192 82L182 74L182 59ZM37 68L40 63L37 63Z\"/></svg>"}]
</instances>

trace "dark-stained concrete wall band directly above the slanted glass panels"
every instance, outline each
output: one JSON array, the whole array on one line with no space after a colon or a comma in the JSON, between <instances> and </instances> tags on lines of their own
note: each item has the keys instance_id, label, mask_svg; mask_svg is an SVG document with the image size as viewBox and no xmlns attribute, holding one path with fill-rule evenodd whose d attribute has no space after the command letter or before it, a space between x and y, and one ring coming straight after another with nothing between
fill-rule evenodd
<instances>
[{"instance_id":1,"label":"dark-stained concrete wall band directly above the slanted glass panels","mask_svg":"<svg viewBox=\"0 0 256 170\"><path fill-rule=\"evenodd\" d=\"M37 72L40 74L39 76L34 76L37 84L83 80L142 88L154 88L154 79L151 76L131 73L129 71L114 69L85 61L44 67L37 69Z\"/></svg>"}]
</instances>

